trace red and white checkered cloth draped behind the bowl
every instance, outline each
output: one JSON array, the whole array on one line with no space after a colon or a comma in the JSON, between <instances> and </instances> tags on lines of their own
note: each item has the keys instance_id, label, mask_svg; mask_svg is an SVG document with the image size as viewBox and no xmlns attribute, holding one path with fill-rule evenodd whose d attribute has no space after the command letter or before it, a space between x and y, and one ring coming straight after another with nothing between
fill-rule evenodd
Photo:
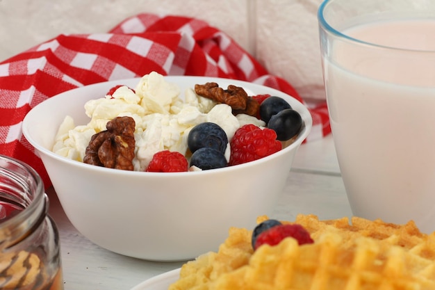
<instances>
[{"instance_id":1,"label":"red and white checkered cloth draped behind the bowl","mask_svg":"<svg viewBox=\"0 0 435 290\"><path fill-rule=\"evenodd\" d=\"M0 154L35 168L51 182L22 136L28 111L60 92L90 83L163 75L218 76L259 83L304 100L284 79L268 74L228 35L189 17L140 14L108 33L59 35L0 63ZM326 104L309 108L309 139L330 132Z\"/></svg>"}]
</instances>

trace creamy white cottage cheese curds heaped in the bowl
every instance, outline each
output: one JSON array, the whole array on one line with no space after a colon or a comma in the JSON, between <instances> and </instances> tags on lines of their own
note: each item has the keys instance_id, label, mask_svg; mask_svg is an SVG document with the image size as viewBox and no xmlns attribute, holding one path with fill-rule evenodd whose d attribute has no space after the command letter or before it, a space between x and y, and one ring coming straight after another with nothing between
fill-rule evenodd
<instances>
[{"instance_id":1,"label":"creamy white cottage cheese curds heaped in the bowl","mask_svg":"<svg viewBox=\"0 0 435 290\"><path fill-rule=\"evenodd\" d=\"M156 152L162 150L188 152L188 132L196 124L214 122L231 140L243 124L265 126L249 115L234 116L227 104L217 104L201 97L193 88L186 89L184 100L180 88L165 81L157 72L142 76L136 88L117 88L112 95L92 99L85 104L90 122L76 126L70 116L58 129L53 152L69 159L83 162L86 147L92 135L106 130L106 123L120 116L129 116L136 122L134 170L143 171ZM229 145L227 146L229 159Z\"/></svg>"}]
</instances>

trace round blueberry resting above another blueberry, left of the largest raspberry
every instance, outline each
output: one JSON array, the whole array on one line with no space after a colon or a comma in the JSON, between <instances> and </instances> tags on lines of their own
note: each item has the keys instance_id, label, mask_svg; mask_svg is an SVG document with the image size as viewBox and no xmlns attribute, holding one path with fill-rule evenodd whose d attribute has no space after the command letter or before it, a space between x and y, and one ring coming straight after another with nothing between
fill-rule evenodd
<instances>
[{"instance_id":1,"label":"round blueberry resting above another blueberry, left of the largest raspberry","mask_svg":"<svg viewBox=\"0 0 435 290\"><path fill-rule=\"evenodd\" d=\"M189 132L188 147L192 153L199 148L210 147L224 154L227 144L228 137L224 129L212 122L197 124Z\"/></svg>"}]
</instances>

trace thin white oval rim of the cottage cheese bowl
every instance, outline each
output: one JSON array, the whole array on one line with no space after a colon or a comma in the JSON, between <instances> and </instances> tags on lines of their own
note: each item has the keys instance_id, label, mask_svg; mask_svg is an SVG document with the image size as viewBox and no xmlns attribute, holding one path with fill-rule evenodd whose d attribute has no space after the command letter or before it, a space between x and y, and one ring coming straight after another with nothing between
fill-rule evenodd
<instances>
[{"instance_id":1,"label":"thin white oval rim of the cottage cheese bowl","mask_svg":"<svg viewBox=\"0 0 435 290\"><path fill-rule=\"evenodd\" d=\"M299 147L299 145L302 144L302 142L307 138L307 136L309 135L309 133L311 131L311 128L313 125L313 119L311 117L311 113L309 112L309 109L304 104L299 102L299 100L296 99L295 97L292 97L291 95L288 95L285 92L282 92L282 91L277 90L275 88L270 88L268 86L263 86L261 84L252 83L252 82L248 82L248 81L240 81L240 80L236 80L236 79L227 79L227 78L220 78L220 77L213 77L213 76L164 76L164 78L165 78L165 81L167 81L169 83L173 82L176 79L187 79L187 80L197 79L198 81L196 81L196 82L202 81L202 83L204 83L204 81L205 82L216 82L216 83L231 82L231 84L233 84L235 86L242 86L245 89L249 88L249 90L254 90L254 91L255 91L255 88L261 88L262 90L264 90L264 88L267 88L267 90L270 91L270 95L275 94L275 95L278 95L279 97L282 97L283 95L285 95L286 97L293 99L293 101L295 103L294 104L292 103L291 106L293 109L295 109L295 111L297 111L299 114L301 114L302 120L303 120L303 124L302 124L303 127L302 127L301 131L299 131L299 136L297 136L297 138L295 139L295 141L293 143L291 143L290 145L288 145L284 149L280 150L279 152L275 152L274 154L271 154L269 156L265 156L261 159L255 160L255 161L250 161L247 163L238 164L236 166L227 166L225 168L215 168L215 169L211 169L211 170L188 171L188 172L165 172L165 173L170 173L170 176L185 177L186 175L188 175L188 176L208 175L208 174L214 174L216 171L219 171L219 172L233 171L233 170L239 170L239 169L245 168L247 166L260 165L261 163L268 162L270 159L279 158L281 155L286 154L288 151L294 150L295 147ZM60 92L58 95L54 95L53 97L49 97L48 99L45 99L43 102L40 102L40 104L31 108L31 110L28 111L28 113L25 115L24 120L22 122L23 135L26 138L26 140L28 141L28 143L30 143L30 145L35 148L35 154L37 154L38 156L40 156L40 154L44 154L44 155L49 156L51 158L57 159L58 161L62 161L63 163L67 163L70 166L79 166L79 167L82 167L83 169L87 169L87 170L90 170L91 168L93 168L92 170L104 173L105 175L108 175L108 174L120 175L121 174L121 175L131 175L131 176L138 175L138 176L150 176L150 177L156 177L156 178L160 178L160 177L167 178L167 174L162 174L162 172L114 170L113 168L104 168L101 166L93 166L93 165L90 165L87 163L68 159L67 157L60 156L60 155L52 152L51 150L47 149L46 147L40 145L38 142L36 142L35 139L32 138L32 134L30 133L30 130L29 130L29 128L31 127L31 124L32 124L31 120L32 120L32 117L35 114L35 112L40 110L40 108L42 108L43 106L47 106L47 104L49 104L49 102L54 102L54 100L56 98L63 97L63 95L65 95L65 93L70 94L71 92L80 91L83 88L92 88L92 87L99 87L99 86L101 86L101 90L103 90L103 87L106 90L106 88L110 88L110 86L115 86L117 84L129 83L129 82L133 82L133 81L137 81L137 83L138 83L140 81L140 79L141 79L141 77L130 78L130 79L119 79L119 80L115 80L115 81L102 81L99 83L92 83L92 84L87 85L87 86L73 88L72 90ZM58 124L58 125L60 125L60 124Z\"/></svg>"}]
</instances>

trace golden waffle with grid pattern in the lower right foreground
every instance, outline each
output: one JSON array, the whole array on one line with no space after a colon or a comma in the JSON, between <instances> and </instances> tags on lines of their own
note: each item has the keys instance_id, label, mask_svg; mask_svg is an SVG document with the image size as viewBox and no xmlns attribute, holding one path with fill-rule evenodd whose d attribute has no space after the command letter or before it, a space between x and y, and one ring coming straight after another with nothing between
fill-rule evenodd
<instances>
[{"instance_id":1,"label":"golden waffle with grid pattern in the lower right foreground","mask_svg":"<svg viewBox=\"0 0 435 290\"><path fill-rule=\"evenodd\" d=\"M299 246L288 238L253 252L252 231L233 227L217 252L184 264L169 290L435 289L435 234L422 234L412 221L299 215L291 223L315 242Z\"/></svg>"}]
</instances>

